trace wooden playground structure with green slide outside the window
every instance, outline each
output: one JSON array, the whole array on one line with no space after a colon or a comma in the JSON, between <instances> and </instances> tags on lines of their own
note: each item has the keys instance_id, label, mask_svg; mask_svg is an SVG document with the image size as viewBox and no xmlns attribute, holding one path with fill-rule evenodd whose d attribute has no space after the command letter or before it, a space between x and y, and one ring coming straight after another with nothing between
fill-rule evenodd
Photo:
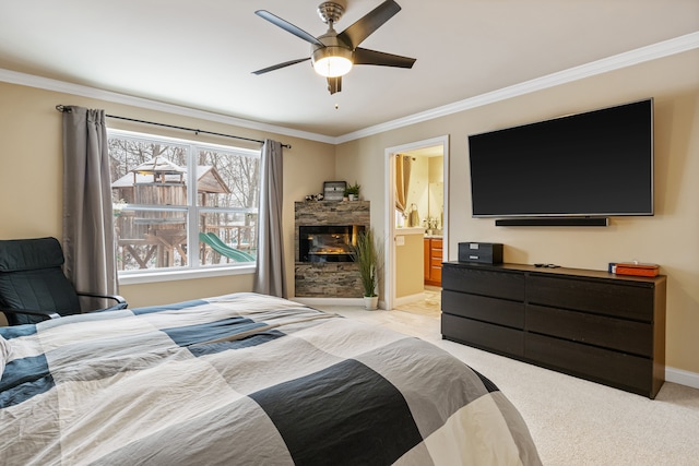
<instances>
[{"instance_id":1,"label":"wooden playground structure with green slide outside the window","mask_svg":"<svg viewBox=\"0 0 699 466\"><path fill-rule=\"evenodd\" d=\"M186 206L186 175L187 170L183 167L164 157L154 157L111 184L114 199L126 204ZM197 167L197 188L198 203L201 206L212 203L214 198L210 199L210 196L230 193L217 170L212 166ZM115 212L115 217L120 270L134 268L134 266L159 268L187 264L185 212L119 210ZM214 213L202 214L200 218L202 232L199 235L199 240L203 264L211 263L205 259L208 248L215 252L210 256L214 263L217 263L218 255L226 258L227 262L256 261L256 256L250 253L256 244L254 224L249 224L247 219L244 222L245 225L232 224L229 219L220 219ZM225 242L222 237L229 242ZM241 249L250 251L246 252Z\"/></svg>"}]
</instances>

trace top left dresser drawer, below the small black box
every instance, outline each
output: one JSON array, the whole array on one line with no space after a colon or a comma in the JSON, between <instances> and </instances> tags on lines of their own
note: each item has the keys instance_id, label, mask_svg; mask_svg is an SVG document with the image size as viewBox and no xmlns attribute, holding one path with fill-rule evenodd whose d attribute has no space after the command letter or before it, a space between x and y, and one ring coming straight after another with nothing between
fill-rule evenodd
<instances>
[{"instance_id":1,"label":"top left dresser drawer, below the small black box","mask_svg":"<svg viewBox=\"0 0 699 466\"><path fill-rule=\"evenodd\" d=\"M520 272L495 272L445 264L441 286L454 291L524 301L524 274Z\"/></svg>"}]
</instances>

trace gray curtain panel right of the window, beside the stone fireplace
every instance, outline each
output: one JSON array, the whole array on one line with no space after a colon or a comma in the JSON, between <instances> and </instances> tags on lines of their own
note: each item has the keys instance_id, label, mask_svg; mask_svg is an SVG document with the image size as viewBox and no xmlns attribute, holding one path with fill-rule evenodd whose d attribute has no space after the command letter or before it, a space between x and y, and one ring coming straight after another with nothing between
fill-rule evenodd
<instances>
[{"instance_id":1,"label":"gray curtain panel right of the window, beside the stone fireplace","mask_svg":"<svg viewBox=\"0 0 699 466\"><path fill-rule=\"evenodd\" d=\"M282 229L282 144L266 140L262 146L258 265L253 291L287 298Z\"/></svg>"}]
</instances>

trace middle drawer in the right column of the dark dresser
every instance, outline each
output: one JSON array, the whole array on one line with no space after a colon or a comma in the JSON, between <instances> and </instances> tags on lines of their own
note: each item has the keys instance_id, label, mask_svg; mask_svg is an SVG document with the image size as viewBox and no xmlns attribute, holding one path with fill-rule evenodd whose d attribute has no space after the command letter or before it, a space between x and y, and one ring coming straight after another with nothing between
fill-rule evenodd
<instances>
[{"instance_id":1,"label":"middle drawer in the right column of the dark dresser","mask_svg":"<svg viewBox=\"0 0 699 466\"><path fill-rule=\"evenodd\" d=\"M526 330L633 355L653 356L653 328L649 323L529 304Z\"/></svg>"}]
</instances>

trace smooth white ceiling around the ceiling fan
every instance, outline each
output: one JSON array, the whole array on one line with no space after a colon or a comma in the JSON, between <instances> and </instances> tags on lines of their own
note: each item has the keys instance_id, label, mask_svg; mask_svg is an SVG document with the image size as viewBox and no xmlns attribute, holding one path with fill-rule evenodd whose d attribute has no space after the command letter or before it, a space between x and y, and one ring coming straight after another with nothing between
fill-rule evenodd
<instances>
[{"instance_id":1,"label":"smooth white ceiling around the ceiling fan","mask_svg":"<svg viewBox=\"0 0 699 466\"><path fill-rule=\"evenodd\" d=\"M0 69L337 138L699 32L697 0L396 0L362 47L416 58L357 65L330 95L310 45L320 0L0 0ZM381 0L346 0L341 32ZM70 103L63 103L70 104Z\"/></svg>"}]
</instances>

